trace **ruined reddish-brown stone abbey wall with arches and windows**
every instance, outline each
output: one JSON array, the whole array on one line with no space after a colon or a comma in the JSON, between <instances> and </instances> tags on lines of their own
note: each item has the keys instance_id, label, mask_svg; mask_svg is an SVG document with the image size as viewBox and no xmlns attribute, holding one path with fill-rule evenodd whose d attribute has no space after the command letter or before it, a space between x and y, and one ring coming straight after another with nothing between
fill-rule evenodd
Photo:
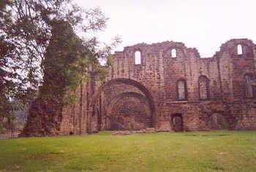
<instances>
[{"instance_id":1,"label":"ruined reddish-brown stone abbey wall with arches and windows","mask_svg":"<svg viewBox=\"0 0 256 172\"><path fill-rule=\"evenodd\" d=\"M108 79L91 75L79 101L57 117L30 113L23 133L42 136L99 130L255 130L256 45L231 39L212 58L180 42L135 44L115 52ZM31 107L39 112L37 105ZM38 118L38 117L37 117ZM47 135L47 133L45 133Z\"/></svg>"}]
</instances>

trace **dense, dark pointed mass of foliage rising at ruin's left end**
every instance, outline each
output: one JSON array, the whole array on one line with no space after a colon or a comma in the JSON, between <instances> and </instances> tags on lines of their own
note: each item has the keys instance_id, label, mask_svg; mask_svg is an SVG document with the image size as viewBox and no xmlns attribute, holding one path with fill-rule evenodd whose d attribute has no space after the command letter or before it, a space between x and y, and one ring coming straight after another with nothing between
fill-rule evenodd
<instances>
[{"instance_id":1,"label":"dense, dark pointed mass of foliage rising at ruin's left end","mask_svg":"<svg viewBox=\"0 0 256 172\"><path fill-rule=\"evenodd\" d=\"M39 96L54 99L64 105L72 101L69 91L86 81L89 66L94 62L99 65L99 62L91 50L83 45L69 23L63 20L54 21L51 33L42 64L44 77Z\"/></svg>"}]
</instances>

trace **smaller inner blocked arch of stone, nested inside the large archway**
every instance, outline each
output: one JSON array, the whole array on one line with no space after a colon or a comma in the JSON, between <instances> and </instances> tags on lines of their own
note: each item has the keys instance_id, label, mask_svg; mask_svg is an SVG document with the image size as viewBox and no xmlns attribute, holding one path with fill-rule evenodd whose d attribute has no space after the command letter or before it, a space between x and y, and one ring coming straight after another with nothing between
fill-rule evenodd
<instances>
[{"instance_id":1,"label":"smaller inner blocked arch of stone, nested inside the large archway","mask_svg":"<svg viewBox=\"0 0 256 172\"><path fill-rule=\"evenodd\" d=\"M140 93L117 95L108 105L106 117L106 127L110 130L141 130L153 125L149 102Z\"/></svg>"}]
</instances>

